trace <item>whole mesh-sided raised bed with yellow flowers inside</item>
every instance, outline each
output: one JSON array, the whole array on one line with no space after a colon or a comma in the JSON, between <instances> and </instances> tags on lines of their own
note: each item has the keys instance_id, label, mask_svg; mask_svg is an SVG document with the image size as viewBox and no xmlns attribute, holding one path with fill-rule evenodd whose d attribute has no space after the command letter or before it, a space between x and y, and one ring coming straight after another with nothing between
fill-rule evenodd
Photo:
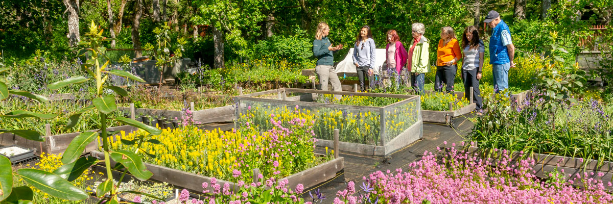
<instances>
[{"instance_id":1,"label":"whole mesh-sided raised bed with yellow flowers inside","mask_svg":"<svg viewBox=\"0 0 613 204\"><path fill-rule=\"evenodd\" d=\"M277 99L257 98L275 93ZM249 119L266 130L300 116L313 121L318 146L332 148L338 129L339 149L346 153L387 156L422 137L419 96L281 88L237 96L235 102L237 126Z\"/></svg>"}]
</instances>

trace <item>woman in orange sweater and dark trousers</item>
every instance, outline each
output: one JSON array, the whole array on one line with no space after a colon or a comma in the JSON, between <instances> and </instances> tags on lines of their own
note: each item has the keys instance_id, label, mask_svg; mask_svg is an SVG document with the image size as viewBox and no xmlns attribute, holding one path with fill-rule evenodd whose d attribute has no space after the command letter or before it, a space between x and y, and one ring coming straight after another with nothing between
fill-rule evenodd
<instances>
[{"instance_id":1,"label":"woman in orange sweater and dark trousers","mask_svg":"<svg viewBox=\"0 0 613 204\"><path fill-rule=\"evenodd\" d=\"M462 59L462 53L453 28L446 26L441 29L441 40L438 42L436 54L434 89L441 92L443 91L443 84L446 84L445 90L447 93L454 94L455 73L458 70L457 62Z\"/></svg>"}]
</instances>

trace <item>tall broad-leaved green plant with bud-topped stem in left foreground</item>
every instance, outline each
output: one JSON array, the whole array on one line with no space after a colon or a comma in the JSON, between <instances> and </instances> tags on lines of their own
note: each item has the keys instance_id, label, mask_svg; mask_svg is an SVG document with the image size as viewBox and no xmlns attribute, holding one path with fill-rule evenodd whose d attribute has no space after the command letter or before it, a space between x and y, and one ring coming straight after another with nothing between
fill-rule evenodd
<instances>
[{"instance_id":1,"label":"tall broad-leaved green plant with bud-topped stem in left foreground","mask_svg":"<svg viewBox=\"0 0 613 204\"><path fill-rule=\"evenodd\" d=\"M107 118L107 116L111 115L113 112L117 111L117 106L115 104L115 96L105 94L106 90L110 89L115 91L115 93L120 95L126 95L126 91L122 88L116 86L105 85L105 82L110 77L110 75L116 75L120 77L131 78L136 81L144 81L139 77L136 77L128 72L124 72L121 70L107 70L107 66L110 61L105 60L108 59L105 57L106 48L102 46L102 43L105 41L109 41L112 39L106 38L102 36L103 31L96 26L96 24L92 21L89 26L89 32L85 34L82 41L78 44L83 48L83 50L79 51L79 56L84 56L88 53L89 58L83 64L82 69L84 69L88 73L88 77L76 76L67 78L66 80L58 81L56 83L52 83L47 86L47 88L59 89L64 86L84 83L89 80L96 81L96 96L91 100L93 105L89 105L88 107L83 108L78 111L74 115L70 116L68 126L74 125L77 123L78 119L83 113L97 111L101 118L101 130L100 132L83 132L82 134L77 135L70 145L67 147L66 151L62 156L62 165L57 168L53 172L45 172L44 170L39 170L35 168L21 168L17 170L17 172L13 172L10 161L7 157L0 156L0 187L1 194L0 200L4 200L5 202L20 202L20 200L32 200L32 189L29 187L20 187L13 188L13 175L18 176L23 179L30 186L39 189L46 194L49 194L53 197L62 198L64 200L83 200L88 198L89 195L86 192L79 188L75 187L74 184L70 183L78 177L82 175L82 173L91 165L98 164L104 162L105 168L107 170L107 180L105 180L99 187L96 189L97 197L101 197L101 200L106 201L107 203L118 203L118 194L121 192L117 191L118 186L113 186L113 175L111 167L111 158L118 162L120 165L116 165L115 169L123 169L123 176L129 171L131 175L140 180L145 180L153 175L151 172L147 171L145 165L142 162L142 159L137 154L134 154L130 151L110 151L109 149L109 135L115 134L113 132L107 131L107 119L112 119L119 123L128 124L134 127L138 127L139 129L143 129L150 134L160 134L161 130L155 127L146 126L138 121L133 119L123 118L123 117L115 117L115 118ZM104 62L104 64L102 63ZM4 72L6 69L0 70L0 72ZM0 99L6 99L9 93L14 93L20 96L31 97L36 100L46 100L44 97L37 96L35 94L25 93L23 91L15 91L8 89L4 82L0 83ZM16 110L6 115L2 115L7 118L26 118L26 117L36 117L40 119L51 119L55 118L56 115L47 115L40 113L32 113L29 111L21 111ZM25 137L31 140L36 141L44 141L40 134L33 130L0 130L2 132L13 132L21 137ZM104 161L99 161L94 157L82 157L81 154L85 149L85 146L96 140L96 138L102 138L102 148L104 149ZM139 142L148 142L147 140L140 140ZM134 193L134 192L133 192ZM138 193L138 192L136 192ZM109 194L108 197L104 197ZM149 197L154 197L150 194L140 193ZM157 197L154 197L159 199Z\"/></svg>"}]
</instances>

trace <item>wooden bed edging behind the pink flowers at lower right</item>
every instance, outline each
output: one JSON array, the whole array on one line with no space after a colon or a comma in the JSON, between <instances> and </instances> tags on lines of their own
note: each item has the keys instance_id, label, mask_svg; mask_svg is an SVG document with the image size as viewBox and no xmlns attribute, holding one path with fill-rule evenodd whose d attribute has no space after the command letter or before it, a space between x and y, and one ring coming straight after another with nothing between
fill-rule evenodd
<instances>
[{"instance_id":1,"label":"wooden bed edging behind the pink flowers at lower right","mask_svg":"<svg viewBox=\"0 0 613 204\"><path fill-rule=\"evenodd\" d=\"M482 157L487 157L485 153L487 153L489 149L478 149L471 147L468 149L468 151L473 154L478 153ZM515 164L515 168L519 168L519 165L517 164L519 164L519 161L521 160L520 153L510 153L510 157L512 162L509 164L509 166ZM536 173L534 173L534 175L538 176L539 178L549 178L549 172L554 172L557 168L558 172L566 176L567 181L576 178L577 173L581 176L581 179L577 178L577 180L575 180L575 183L573 183L574 186L582 186L584 184L582 179L600 179L604 182L604 188L609 192L613 192L613 186L607 185L607 181L613 181L613 162L604 161L603 164L598 165L598 161L593 159L584 160L576 157L538 153L534 153L531 157L535 160L533 170L535 170ZM493 156L490 156L490 158L494 158L494 161L492 162L494 164L498 161L498 159L495 159ZM562 173L562 170L564 170L564 173ZM587 173L587 177L584 175L584 173ZM602 173L603 176L598 176L598 173Z\"/></svg>"}]
</instances>

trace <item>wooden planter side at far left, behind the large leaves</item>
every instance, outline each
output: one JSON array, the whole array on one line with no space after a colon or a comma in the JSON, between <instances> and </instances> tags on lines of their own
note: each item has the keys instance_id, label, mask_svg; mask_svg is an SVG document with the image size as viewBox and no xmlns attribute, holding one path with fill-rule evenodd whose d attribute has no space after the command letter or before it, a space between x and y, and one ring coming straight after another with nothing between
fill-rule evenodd
<instances>
[{"instance_id":1,"label":"wooden planter side at far left, behind the large leaves","mask_svg":"<svg viewBox=\"0 0 613 204\"><path fill-rule=\"evenodd\" d=\"M127 132L132 132L134 130L137 130L137 128L132 127L132 126L116 126L116 127L109 127L107 128L107 130L109 131L124 130L127 133ZM87 132L91 132L91 131L97 131L97 130L89 130ZM66 148L68 148L68 145L70 145L70 142L72 142L72 139L77 137L77 135L79 134L81 134L81 132L73 132L73 133L60 134L60 135L48 135L48 136L43 136L43 138L45 138L45 142L37 142L37 141L32 141L32 140L26 140L25 138L19 137L12 133L2 133L0 134L0 145L6 145L6 146L19 145L23 148L34 150L34 154L39 155L39 156L40 156L40 153L60 154L66 151ZM83 151L83 153L84 154L89 153L90 151L94 151L97 148L98 148L98 142L97 140L94 140L93 142L89 143L85 147L85 151Z\"/></svg>"}]
</instances>

